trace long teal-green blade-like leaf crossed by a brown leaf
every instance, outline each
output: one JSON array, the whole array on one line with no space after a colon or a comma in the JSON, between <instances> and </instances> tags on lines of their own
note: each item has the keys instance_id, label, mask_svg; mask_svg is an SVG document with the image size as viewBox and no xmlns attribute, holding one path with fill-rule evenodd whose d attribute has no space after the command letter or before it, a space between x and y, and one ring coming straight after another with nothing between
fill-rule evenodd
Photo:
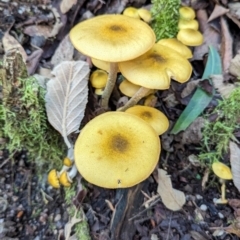
<instances>
[{"instance_id":1,"label":"long teal-green blade-like leaf crossed by a brown leaf","mask_svg":"<svg viewBox=\"0 0 240 240\"><path fill-rule=\"evenodd\" d=\"M222 74L222 65L217 50L210 46L208 60L202 79L209 79L210 81L210 76L213 74ZM212 94L209 94L198 87L170 133L177 134L180 131L185 130L208 106L214 93L215 91L213 91Z\"/></svg>"}]
</instances>

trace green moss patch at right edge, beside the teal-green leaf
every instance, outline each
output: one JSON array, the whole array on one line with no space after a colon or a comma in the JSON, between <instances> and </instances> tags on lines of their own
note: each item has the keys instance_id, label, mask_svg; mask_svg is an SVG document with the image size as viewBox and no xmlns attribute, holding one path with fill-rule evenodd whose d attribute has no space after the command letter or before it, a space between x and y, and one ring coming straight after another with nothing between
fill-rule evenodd
<instances>
[{"instance_id":1,"label":"green moss patch at right edge, beside the teal-green leaf","mask_svg":"<svg viewBox=\"0 0 240 240\"><path fill-rule=\"evenodd\" d=\"M239 127L240 119L240 87L233 90L229 98L219 101L211 114L217 119L207 121L203 130L200 160L207 164L220 161L228 151L229 140L234 138L234 130ZM206 115L206 118L209 116Z\"/></svg>"}]
</instances>

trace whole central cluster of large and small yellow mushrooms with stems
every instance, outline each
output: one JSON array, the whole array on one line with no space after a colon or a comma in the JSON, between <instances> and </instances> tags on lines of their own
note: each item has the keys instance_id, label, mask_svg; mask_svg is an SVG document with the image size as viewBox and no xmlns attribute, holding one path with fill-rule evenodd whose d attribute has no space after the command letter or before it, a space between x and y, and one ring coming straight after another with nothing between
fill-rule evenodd
<instances>
[{"instance_id":1,"label":"whole central cluster of large and small yellow mushrooms with stems","mask_svg":"<svg viewBox=\"0 0 240 240\"><path fill-rule=\"evenodd\" d=\"M155 33L146 23L151 15L144 14L144 9L128 8L122 15L85 20L70 31L74 47L98 68L89 80L95 93L102 95L102 108L108 110L118 73L124 77L119 89L130 100L83 127L74 146L74 157L70 162L64 161L59 172L54 169L49 173L48 181L53 187L70 186L80 172L97 186L126 188L146 179L156 167L161 150L159 135L168 130L169 121L153 107L154 93L168 89L172 79L179 83L189 80L192 66L188 59L192 53L177 39L155 43ZM136 105L144 97L146 106Z\"/></svg>"}]
</instances>

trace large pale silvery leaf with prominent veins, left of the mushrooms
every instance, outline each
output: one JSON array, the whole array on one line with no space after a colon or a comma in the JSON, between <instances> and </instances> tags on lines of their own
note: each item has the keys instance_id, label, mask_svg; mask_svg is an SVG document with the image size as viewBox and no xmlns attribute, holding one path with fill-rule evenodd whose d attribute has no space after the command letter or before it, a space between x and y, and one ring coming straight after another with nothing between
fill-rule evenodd
<instances>
[{"instance_id":1,"label":"large pale silvery leaf with prominent veins, left of the mushrooms","mask_svg":"<svg viewBox=\"0 0 240 240\"><path fill-rule=\"evenodd\" d=\"M62 62L56 66L47 83L46 110L48 121L71 147L67 136L78 131L88 97L89 65L83 61Z\"/></svg>"}]
</instances>

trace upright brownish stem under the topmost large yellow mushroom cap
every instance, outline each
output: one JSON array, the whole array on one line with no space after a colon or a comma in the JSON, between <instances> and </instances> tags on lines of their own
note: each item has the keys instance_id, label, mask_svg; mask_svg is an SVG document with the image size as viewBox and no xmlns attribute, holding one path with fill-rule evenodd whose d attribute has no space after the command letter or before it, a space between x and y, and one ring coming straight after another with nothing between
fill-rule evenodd
<instances>
[{"instance_id":1,"label":"upright brownish stem under the topmost large yellow mushroom cap","mask_svg":"<svg viewBox=\"0 0 240 240\"><path fill-rule=\"evenodd\" d=\"M101 107L104 109L108 108L109 98L112 94L117 79L117 70L118 70L117 63L110 63L107 85L102 94Z\"/></svg>"}]
</instances>

